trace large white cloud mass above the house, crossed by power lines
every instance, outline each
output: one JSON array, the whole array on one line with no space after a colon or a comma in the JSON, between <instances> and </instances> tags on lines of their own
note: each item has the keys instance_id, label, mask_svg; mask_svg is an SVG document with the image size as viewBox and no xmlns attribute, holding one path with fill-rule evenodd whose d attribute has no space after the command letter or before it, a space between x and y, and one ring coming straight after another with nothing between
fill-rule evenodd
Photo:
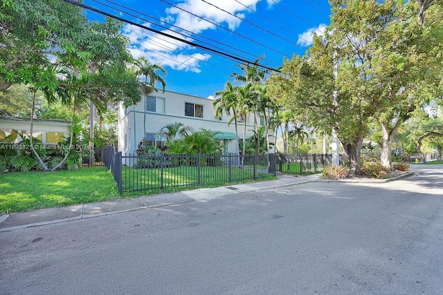
<instances>
[{"instance_id":1,"label":"large white cloud mass above the house, crossed by power lines","mask_svg":"<svg viewBox=\"0 0 443 295\"><path fill-rule=\"evenodd\" d=\"M205 1L213 3L214 6L241 18L245 17L246 12L250 12L247 8L242 6L242 4L236 1ZM274 4L274 1L271 0L242 0L241 2L244 3L245 6L255 9L255 6L259 1L266 1L269 7ZM275 2L278 1L275 0ZM233 15L229 15L208 3L201 0L184 0L177 4L177 6L194 15L208 19L213 23L195 17L194 15L190 15L188 12L180 10L179 8L170 7L165 10L165 17L161 19L164 22L162 25L168 26L168 23L170 23L178 28L183 28L183 30L171 28L176 32L170 30L164 30L163 32L168 35L192 41L192 34L190 32L199 34L204 30L215 30L217 29L217 26L214 23L224 27L227 26L230 30L235 30L239 26L241 23L240 19ZM150 28L152 24L143 23L143 26ZM153 26L153 28L156 27ZM199 66L201 61L207 61L211 57L211 55L208 54L195 53L195 50L199 49L194 48L189 44L165 37L158 33L150 32L137 26L126 24L123 26L122 32L123 35L129 38L130 46L128 49L134 58L144 56L151 62L158 62L165 67L169 66L175 70L186 70L200 73L201 70L199 69Z\"/></svg>"}]
</instances>

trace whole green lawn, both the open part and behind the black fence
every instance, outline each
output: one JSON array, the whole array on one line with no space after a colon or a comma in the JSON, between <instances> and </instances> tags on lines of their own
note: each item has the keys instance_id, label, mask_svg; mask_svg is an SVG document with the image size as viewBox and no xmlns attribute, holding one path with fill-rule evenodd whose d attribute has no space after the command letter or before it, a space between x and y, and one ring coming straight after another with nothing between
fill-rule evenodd
<instances>
[{"instance_id":1,"label":"whole green lawn, both the open part and behind the black fence","mask_svg":"<svg viewBox=\"0 0 443 295\"><path fill-rule=\"evenodd\" d=\"M235 168L231 171L233 182L228 182L228 170L223 167L201 167L201 185L215 187L226 184L251 182L253 170ZM149 191L124 193L125 197L141 193L159 193L160 169L123 169L123 189L143 188ZM257 169L260 180L275 179ZM129 179L132 181L129 182ZM197 167L163 169L163 191L179 191L195 187ZM126 181L126 182L125 182ZM179 184L181 183L181 184ZM183 187L174 187L183 185ZM75 171L16 172L0 174L0 212L28 211L60 207L70 204L100 202L120 198L117 184L107 168L82 168Z\"/></svg>"}]
</instances>

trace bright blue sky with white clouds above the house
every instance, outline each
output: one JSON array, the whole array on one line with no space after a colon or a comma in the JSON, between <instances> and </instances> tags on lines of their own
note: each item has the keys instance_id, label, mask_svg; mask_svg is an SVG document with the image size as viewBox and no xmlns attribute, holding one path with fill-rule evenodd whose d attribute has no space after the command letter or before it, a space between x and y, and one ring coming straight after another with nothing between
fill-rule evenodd
<instances>
[{"instance_id":1,"label":"bright blue sky with white clouds above the house","mask_svg":"<svg viewBox=\"0 0 443 295\"><path fill-rule=\"evenodd\" d=\"M320 34L329 24L330 14L327 0L84 0L84 4L244 59L263 57L260 63L272 68L281 66L283 57L303 55L312 34ZM87 17L102 19L95 12L87 12ZM134 57L145 56L165 67L169 91L210 97L232 81L231 73L241 73L240 61L143 28L125 24L122 33L131 40L128 49Z\"/></svg>"}]
</instances>

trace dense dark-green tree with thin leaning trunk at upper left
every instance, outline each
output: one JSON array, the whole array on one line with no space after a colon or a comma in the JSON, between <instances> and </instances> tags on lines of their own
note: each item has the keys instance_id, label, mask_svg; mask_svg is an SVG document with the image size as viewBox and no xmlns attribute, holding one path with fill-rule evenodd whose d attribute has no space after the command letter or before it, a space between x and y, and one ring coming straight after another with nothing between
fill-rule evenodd
<instances>
[{"instance_id":1,"label":"dense dark-green tree with thin leaning trunk at upper left","mask_svg":"<svg viewBox=\"0 0 443 295\"><path fill-rule=\"evenodd\" d=\"M93 102L100 110L138 102L139 82L128 70L132 56L120 28L111 19L89 21L81 8L60 0L1 0L0 91L23 84L50 104ZM31 118L34 108L35 99Z\"/></svg>"}]
</instances>

